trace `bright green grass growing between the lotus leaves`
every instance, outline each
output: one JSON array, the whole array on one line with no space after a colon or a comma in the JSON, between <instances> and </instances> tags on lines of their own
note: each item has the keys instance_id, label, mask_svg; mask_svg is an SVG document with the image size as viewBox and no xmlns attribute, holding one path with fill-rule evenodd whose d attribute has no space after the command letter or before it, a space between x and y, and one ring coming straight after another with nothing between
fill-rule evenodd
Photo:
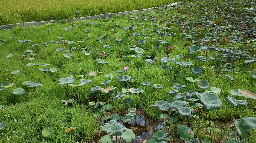
<instances>
[{"instance_id":1,"label":"bright green grass growing between the lotus leaves","mask_svg":"<svg viewBox=\"0 0 256 143\"><path fill-rule=\"evenodd\" d=\"M186 8L188 5L182 5L181 8ZM160 10L159 10L160 11ZM152 31L155 29L162 29L165 24L153 27L149 19L147 21L141 20L141 16L148 17L148 15L155 15L156 18L163 18L164 16L182 16L183 14L175 9L171 11L166 10L165 12L169 13L166 15L162 14L160 17L159 13L139 13L139 21L143 22L145 27L151 29ZM158 17L159 16L159 17ZM203 15L204 16L204 15ZM135 32L142 34L155 34L153 38L147 39L147 44L144 43L143 45L138 45L137 42L143 37L138 36L137 42L132 42L129 40L128 37L132 37L131 33L127 33L124 30L124 27L129 27L130 24L139 24L139 21L136 21L134 18L132 20L127 20L128 16L122 17L114 17L110 18L110 20L115 20L114 22L118 23L114 28L119 32L119 34L113 34L112 32L104 32L102 29L108 27L109 23L100 23L98 20L91 20L94 24L90 26L84 27L76 27L76 25L85 25L87 21L77 21L73 22L72 29L70 31L65 31L65 27L69 27L69 24L48 24L42 26L36 26L35 28L25 28L25 29L18 29L14 28L11 31L0 32L1 39L8 39L7 41L3 42L1 48L1 58L0 58L0 83L12 82L12 78L10 78L6 73L4 73L4 69L8 71L13 70L22 70L17 75L13 76L13 83L15 85L10 89L5 89L4 91L0 92L0 104L4 105L3 113L0 113L0 123L6 120L7 125L4 129L0 130L0 133L3 134L0 136L0 143L1 142L91 142L92 139L98 134L98 123L96 123L97 118L93 116L93 111L88 108L89 102L97 102L96 99L97 94L99 94L100 102L109 102L113 104L113 109L110 112L121 112L128 109L128 105L124 104L120 100L116 101L113 100L113 96L107 95L106 93L98 92L98 93L90 93L90 89L95 86L100 86L100 83L106 80L105 75L112 74L114 76L111 79L111 82L108 86L114 86L118 89L114 91L121 92L123 89L123 84L120 83L115 77L121 74L117 74L117 71L123 69L124 66L128 66L129 70L127 71L127 75L132 76L132 78L137 78L138 80L134 83L127 83L125 84L125 88L143 88L140 84L142 82L148 81L153 84L162 84L163 89L151 89L147 88L147 90L140 94L139 101L143 106L143 110L146 115L155 118L155 111L156 109L150 109L148 106L153 105L156 101L166 101L170 96L168 95L167 91L172 89L173 85L182 84L185 85L186 88L181 90L181 92L187 92L188 90L197 91L199 93L203 92L203 90L197 88L197 83L192 83L186 80L186 77L192 77L193 79L200 78L209 81L209 84L213 87L221 88L222 91L218 96L222 100L223 104L219 110L216 111L206 111L202 109L200 112L200 130L199 130L199 137L208 136L209 134L206 131L206 121L208 120L209 114L211 115L212 121L220 127L222 124L221 122L231 120L231 117L234 113L234 107L228 104L226 97L231 96L238 100L246 100L245 97L238 97L232 96L229 94L229 90L232 89L246 89L256 93L256 83L255 79L251 77L251 68L255 68L255 64L250 66L244 65L243 61L240 64L237 62L234 66L238 73L233 72L225 72L224 74L228 74L234 76L234 81L228 79L223 75L223 72L220 70L221 63L219 61L215 61L211 63L210 60L207 59L207 62L204 63L206 67L210 67L210 65L216 67L214 70L211 70L210 73L204 71L201 77L194 75L191 72L191 68L198 65L195 62L194 54L186 54L185 59L176 59L176 61L184 62L186 60L191 60L194 65L190 67L179 67L174 65L173 62L169 63L169 66L172 66L172 70L164 71L160 69L161 66L164 64L161 63L160 59L167 54L171 54L168 57L174 58L177 54L182 54L183 50L187 50L186 46L190 46L192 43L186 41L185 36L181 33L189 32L182 30L180 25L172 25L171 28L167 31L167 33L176 32L178 33L176 37L169 36L165 41L168 42L166 46L175 46L175 49L172 51L167 50L164 48L165 46L160 44L160 49L155 49L156 43L154 42L160 34L154 33L152 31L145 31L144 28L136 29ZM199 19L199 17L196 17ZM179 19L175 19L179 20ZM157 24L161 24L161 20L157 20ZM185 23L184 23L185 25ZM188 26L188 25L185 25ZM46 27L46 28L44 28ZM51 29L51 31L46 31L45 29ZM23 32L21 32L24 30ZM90 31L90 35L82 34L83 31ZM205 28L204 31L201 32L198 36L192 35L196 37L197 41L204 38L204 33L210 31L210 29ZM108 64L103 66L103 71L101 71L101 67L95 61L96 58L101 58L100 51L103 49L102 45L97 43L92 43L95 39L100 38L103 34L106 34L109 40L102 40L101 42L103 45L111 46L111 50L104 49L105 52L108 52L108 55L103 58L102 61L108 61ZM179 35L181 34L181 35ZM230 34L230 32L226 31L225 34ZM98 36L101 35L101 36ZM218 32L218 36L220 33ZM9 39L9 37L15 37L15 39ZM64 45L57 44L56 42L48 43L48 46L44 46L43 44L49 41L60 41L58 37L64 37L63 40L69 41L84 41L84 43L79 44L75 42L74 44L64 43ZM118 43L117 45L114 44L115 39L120 38L122 42ZM166 38L166 37L164 37ZM30 45L28 44L21 44L18 43L17 40L24 40L29 39L31 40ZM31 45L34 44L41 44L36 47L32 47ZM208 43L210 45L210 43ZM249 43L248 47L253 45L254 43ZM126 55L133 55L134 52L130 50L131 46L138 46L142 49L150 49L147 52L147 55L151 56L148 59L152 59L155 61L154 65L149 65L145 62L145 58L125 58L123 56ZM216 47L227 48L227 45L223 45L220 42L214 43ZM64 47L65 46L65 47ZM88 46L91 46L89 48ZM239 47L239 43L234 43L228 45L228 47ZM65 58L63 54L67 54L67 52L56 52L55 49L58 48L65 48L70 49L71 47L77 47L77 50L70 51L73 53L72 62L68 58ZM90 53L90 51L95 52L95 54L91 55L84 55L81 52L81 48L86 48L85 51ZM99 50L98 50L99 49ZM22 54L25 53L26 50L33 50L32 53L35 53L36 56L26 56L24 57ZM69 52L68 52L69 53ZM124 53L124 54L123 54ZM144 55L146 52L144 52ZM6 58L9 54L13 54L15 56L11 58ZM196 53L197 56L201 53ZM209 54L209 51L208 51ZM30 55L30 54L29 54ZM217 58L217 55L214 54L214 57ZM28 60L28 58L34 58L33 61ZM115 61L115 58L121 58L121 61ZM133 65L131 66L131 62ZM36 66L27 66L29 63L48 63L50 66L47 68L56 67L58 69L58 74L48 72L45 74L38 70ZM166 65L166 64L165 64ZM81 67L81 72L76 73L77 69ZM62 99L68 100L70 98L77 99L76 88L70 87L65 85L59 85L58 80L59 78L68 77L68 76L75 76L75 75L86 75L91 71L100 71L101 74L93 77L89 77L89 80L92 80L92 83L89 83L84 87L79 88L79 106L78 107L66 107L63 106ZM209 76L209 74L211 76ZM36 78L36 76L42 76L41 78ZM209 76L209 77L208 77ZM74 84L79 84L79 79L75 77L76 81ZM239 82L237 82L239 80ZM34 95L34 91L32 89L28 89L25 85L22 85L24 81L38 81L42 83L42 87L38 87L35 89L36 95L38 96L38 107L37 107L37 116L36 116L36 97ZM24 88L26 93L23 96L12 94L13 89L15 88ZM101 86L101 88L106 88L106 86ZM133 100L134 106L139 107L139 103L134 95L127 93ZM248 117L255 117L255 100L247 99L249 102L248 107L239 106L235 113L236 119L241 119L244 116ZM200 101L198 101L200 102ZM83 116L82 116L83 112ZM108 113L107 113L108 114ZM6 117L5 115L9 115L10 117ZM177 123L174 123L175 126L182 122L178 113L175 115L179 118ZM17 119L17 122L14 120ZM195 132L197 129L197 121L195 118L185 118L183 124L189 125L191 129ZM41 135L41 131L45 126L53 127L54 133L53 136L49 139L45 139ZM64 130L69 127L76 127L75 130L64 133ZM234 131L236 129L231 128L228 131ZM15 131L15 132L13 132ZM236 132L236 131L235 131ZM217 134L219 135L219 134ZM232 134L234 135L234 134ZM255 131L252 130L249 135L249 139L251 142L255 142ZM224 140L227 137L224 137ZM236 137L237 138L237 137Z\"/></svg>"}]
</instances>

